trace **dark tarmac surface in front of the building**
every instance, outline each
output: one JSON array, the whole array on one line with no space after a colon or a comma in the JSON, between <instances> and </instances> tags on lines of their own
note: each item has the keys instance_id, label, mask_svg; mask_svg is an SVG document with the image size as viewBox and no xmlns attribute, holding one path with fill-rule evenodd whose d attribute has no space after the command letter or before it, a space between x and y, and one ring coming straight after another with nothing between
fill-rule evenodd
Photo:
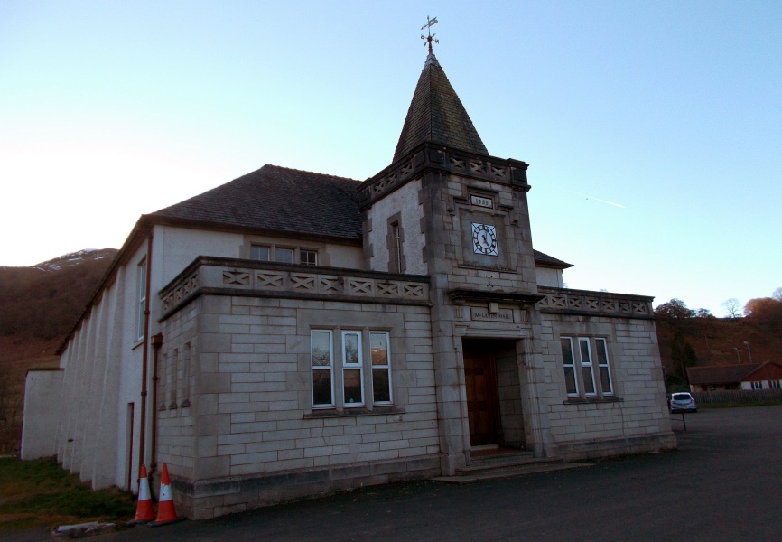
<instances>
[{"instance_id":1,"label":"dark tarmac surface in front of the building","mask_svg":"<svg viewBox=\"0 0 782 542\"><path fill-rule=\"evenodd\" d=\"M702 409L686 432L671 419L675 452L467 486L377 486L99 540L782 540L782 406ZM14 540L51 540L29 535Z\"/></svg>"}]
</instances>

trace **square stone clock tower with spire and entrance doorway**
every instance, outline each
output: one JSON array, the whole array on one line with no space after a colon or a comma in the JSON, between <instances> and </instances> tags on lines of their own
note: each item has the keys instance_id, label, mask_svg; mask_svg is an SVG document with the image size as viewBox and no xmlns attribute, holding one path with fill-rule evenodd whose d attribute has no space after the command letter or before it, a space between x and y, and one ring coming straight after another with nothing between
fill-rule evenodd
<instances>
[{"instance_id":1,"label":"square stone clock tower with spire and entrance doorway","mask_svg":"<svg viewBox=\"0 0 782 542\"><path fill-rule=\"evenodd\" d=\"M392 164L359 191L366 267L431 281L445 472L478 443L544 453L526 170L489 154L430 52Z\"/></svg>"}]
</instances>

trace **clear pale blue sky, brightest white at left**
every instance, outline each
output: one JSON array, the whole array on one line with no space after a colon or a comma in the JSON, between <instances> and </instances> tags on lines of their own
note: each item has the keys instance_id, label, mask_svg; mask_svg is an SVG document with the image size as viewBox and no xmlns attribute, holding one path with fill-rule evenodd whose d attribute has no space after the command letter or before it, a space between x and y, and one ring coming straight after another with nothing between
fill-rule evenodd
<instances>
[{"instance_id":1,"label":"clear pale blue sky, brightest white at left","mask_svg":"<svg viewBox=\"0 0 782 542\"><path fill-rule=\"evenodd\" d=\"M119 248L264 164L373 176L427 16L569 287L723 316L782 286L778 0L3 0L0 266Z\"/></svg>"}]
</instances>

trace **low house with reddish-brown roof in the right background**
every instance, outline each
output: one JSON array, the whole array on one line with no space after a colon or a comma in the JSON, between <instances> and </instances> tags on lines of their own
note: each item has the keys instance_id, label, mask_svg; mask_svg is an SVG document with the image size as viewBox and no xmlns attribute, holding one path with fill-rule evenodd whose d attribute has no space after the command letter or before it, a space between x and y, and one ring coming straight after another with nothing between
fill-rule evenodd
<instances>
[{"instance_id":1,"label":"low house with reddish-brown roof in the right background","mask_svg":"<svg viewBox=\"0 0 782 542\"><path fill-rule=\"evenodd\" d=\"M782 388L782 364L777 361L688 367L691 391Z\"/></svg>"}]
</instances>

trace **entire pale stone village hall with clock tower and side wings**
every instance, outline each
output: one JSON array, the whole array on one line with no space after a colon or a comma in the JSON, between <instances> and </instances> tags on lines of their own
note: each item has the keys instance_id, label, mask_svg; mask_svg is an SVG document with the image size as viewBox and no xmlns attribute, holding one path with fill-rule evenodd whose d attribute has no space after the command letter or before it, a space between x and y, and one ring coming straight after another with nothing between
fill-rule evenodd
<instances>
[{"instance_id":1,"label":"entire pale stone village hall with clock tower and side wings","mask_svg":"<svg viewBox=\"0 0 782 542\"><path fill-rule=\"evenodd\" d=\"M390 150L390 149L389 149ZM204 519L454 475L479 451L674 448L652 297L563 287L527 165L489 154L430 51L390 165L275 165L143 215L26 381L23 459Z\"/></svg>"}]
</instances>

